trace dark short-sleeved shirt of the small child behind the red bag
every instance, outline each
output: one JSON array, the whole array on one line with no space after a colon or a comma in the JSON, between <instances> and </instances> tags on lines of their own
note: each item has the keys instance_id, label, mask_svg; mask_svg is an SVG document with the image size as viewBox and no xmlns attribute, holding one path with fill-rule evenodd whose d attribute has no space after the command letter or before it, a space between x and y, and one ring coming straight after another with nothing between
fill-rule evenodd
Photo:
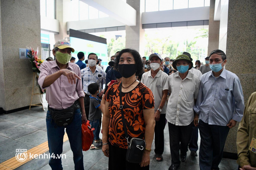
<instances>
[{"instance_id":1,"label":"dark short-sleeved shirt of the small child behind the red bag","mask_svg":"<svg viewBox=\"0 0 256 170\"><path fill-rule=\"evenodd\" d=\"M93 120L97 120L97 119L101 119L101 110L100 110L100 102L101 100L97 97L92 97L92 95L90 95L90 109L89 109L89 120L93 121Z\"/></svg>"}]
</instances>

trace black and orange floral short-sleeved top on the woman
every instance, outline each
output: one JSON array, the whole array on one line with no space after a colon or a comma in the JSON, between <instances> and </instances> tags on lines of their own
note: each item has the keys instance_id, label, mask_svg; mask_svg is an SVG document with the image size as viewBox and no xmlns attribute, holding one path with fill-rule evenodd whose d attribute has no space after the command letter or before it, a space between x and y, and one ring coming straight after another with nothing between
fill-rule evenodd
<instances>
[{"instance_id":1,"label":"black and orange floral short-sleeved top on the woman","mask_svg":"<svg viewBox=\"0 0 256 170\"><path fill-rule=\"evenodd\" d=\"M109 102L109 141L112 145L126 149L127 140L123 129L123 121L119 99L120 82L109 86L104 99ZM152 91L139 83L132 91L122 92L122 105L129 139L145 138L145 120L143 109L154 109L154 96Z\"/></svg>"}]
</instances>

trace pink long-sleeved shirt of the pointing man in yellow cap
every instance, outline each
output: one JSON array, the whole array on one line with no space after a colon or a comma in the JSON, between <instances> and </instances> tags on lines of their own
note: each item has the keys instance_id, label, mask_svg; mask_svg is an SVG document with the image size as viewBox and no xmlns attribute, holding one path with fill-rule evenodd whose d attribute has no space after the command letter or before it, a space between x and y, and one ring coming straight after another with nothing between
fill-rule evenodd
<instances>
[{"instance_id":1,"label":"pink long-sleeved shirt of the pointing man in yellow cap","mask_svg":"<svg viewBox=\"0 0 256 170\"><path fill-rule=\"evenodd\" d=\"M68 63L66 68L75 72L81 77L81 71L77 64ZM45 61L40 66L40 75L38 78L38 84L42 88L45 77L51 75L60 68L56 61ZM49 106L53 109L66 109L70 107L78 98L84 97L82 81L76 79L76 84L69 83L66 76L61 75L53 84L46 89L46 100Z\"/></svg>"}]
</instances>

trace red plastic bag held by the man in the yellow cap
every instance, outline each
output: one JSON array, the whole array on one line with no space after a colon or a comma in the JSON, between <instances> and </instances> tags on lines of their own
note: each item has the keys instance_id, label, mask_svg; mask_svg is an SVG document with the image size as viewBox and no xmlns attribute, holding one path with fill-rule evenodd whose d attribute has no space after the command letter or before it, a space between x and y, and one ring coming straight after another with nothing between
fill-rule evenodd
<instances>
[{"instance_id":1,"label":"red plastic bag held by the man in the yellow cap","mask_svg":"<svg viewBox=\"0 0 256 170\"><path fill-rule=\"evenodd\" d=\"M87 121L87 123L82 124L82 147L83 151L88 151L90 149L90 146L93 142L93 133L92 130L94 128L91 128L90 121Z\"/></svg>"}]
</instances>

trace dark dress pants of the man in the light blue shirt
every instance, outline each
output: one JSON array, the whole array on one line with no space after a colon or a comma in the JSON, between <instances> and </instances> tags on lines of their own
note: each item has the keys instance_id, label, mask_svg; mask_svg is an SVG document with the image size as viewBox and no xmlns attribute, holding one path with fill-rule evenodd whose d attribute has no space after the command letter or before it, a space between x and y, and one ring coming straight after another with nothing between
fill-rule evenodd
<instances>
[{"instance_id":1,"label":"dark dress pants of the man in the light blue shirt","mask_svg":"<svg viewBox=\"0 0 256 170\"><path fill-rule=\"evenodd\" d=\"M219 170L225 141L228 136L228 126L209 125L199 120L201 137L199 148L200 170Z\"/></svg>"}]
</instances>

